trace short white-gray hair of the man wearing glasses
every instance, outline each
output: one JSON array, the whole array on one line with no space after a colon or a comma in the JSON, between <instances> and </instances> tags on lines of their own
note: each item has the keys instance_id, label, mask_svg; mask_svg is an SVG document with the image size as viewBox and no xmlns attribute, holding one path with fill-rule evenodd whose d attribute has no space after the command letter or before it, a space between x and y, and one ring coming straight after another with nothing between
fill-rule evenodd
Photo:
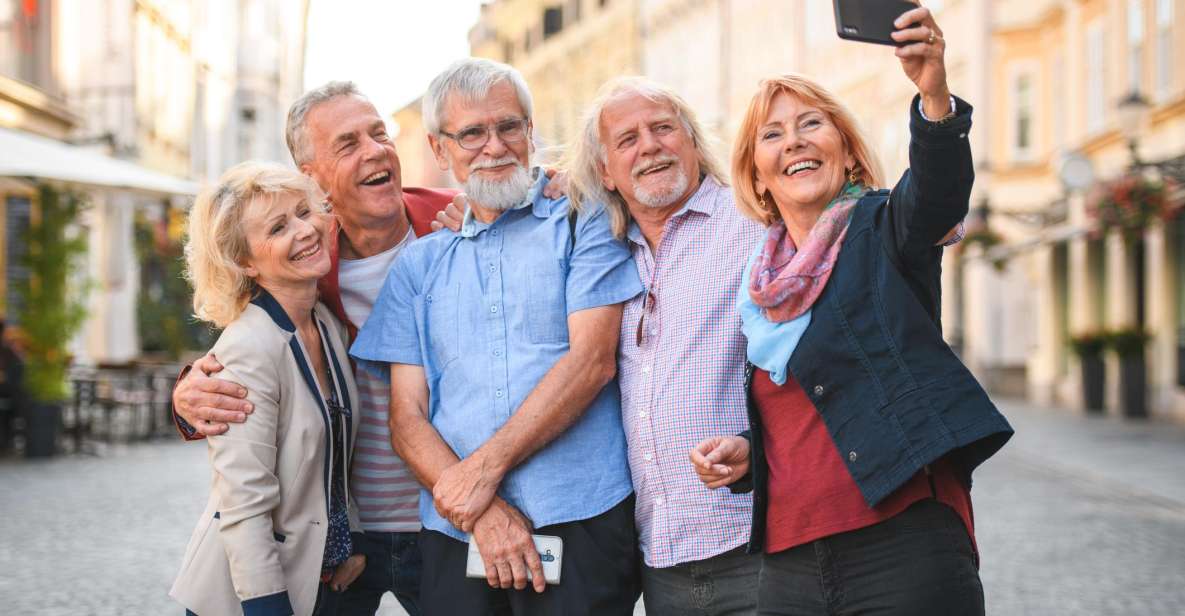
<instances>
[{"instance_id":1,"label":"short white-gray hair of the man wearing glasses","mask_svg":"<svg viewBox=\"0 0 1185 616\"><path fill-rule=\"evenodd\" d=\"M430 135L440 134L449 96L456 94L466 102L479 101L489 94L491 88L502 82L514 86L519 107L530 120L534 111L531 90L518 69L486 58L466 58L450 64L428 85L422 107L424 130Z\"/></svg>"}]
</instances>

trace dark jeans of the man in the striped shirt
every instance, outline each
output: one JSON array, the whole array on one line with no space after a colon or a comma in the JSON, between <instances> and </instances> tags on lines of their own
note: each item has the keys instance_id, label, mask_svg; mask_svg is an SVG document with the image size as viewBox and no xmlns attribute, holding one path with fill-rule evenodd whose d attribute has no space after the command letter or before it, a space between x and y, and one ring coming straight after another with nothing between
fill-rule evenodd
<instances>
[{"instance_id":1,"label":"dark jeans of the man in the striped shirt","mask_svg":"<svg viewBox=\"0 0 1185 616\"><path fill-rule=\"evenodd\" d=\"M345 592L335 593L338 616L373 616L383 595L391 592L411 616L419 615L419 533L353 533L354 553L366 556L366 569Z\"/></svg>"}]
</instances>

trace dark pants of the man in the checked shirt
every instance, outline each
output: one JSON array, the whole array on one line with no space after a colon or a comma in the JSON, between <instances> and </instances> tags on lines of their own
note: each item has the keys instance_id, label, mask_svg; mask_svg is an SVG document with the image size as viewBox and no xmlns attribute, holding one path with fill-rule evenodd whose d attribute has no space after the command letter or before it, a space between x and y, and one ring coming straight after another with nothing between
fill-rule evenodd
<instances>
[{"instance_id":1,"label":"dark pants of the man in the checked shirt","mask_svg":"<svg viewBox=\"0 0 1185 616\"><path fill-rule=\"evenodd\" d=\"M751 616L760 572L761 556L744 546L694 563L642 565L646 616Z\"/></svg>"}]
</instances>

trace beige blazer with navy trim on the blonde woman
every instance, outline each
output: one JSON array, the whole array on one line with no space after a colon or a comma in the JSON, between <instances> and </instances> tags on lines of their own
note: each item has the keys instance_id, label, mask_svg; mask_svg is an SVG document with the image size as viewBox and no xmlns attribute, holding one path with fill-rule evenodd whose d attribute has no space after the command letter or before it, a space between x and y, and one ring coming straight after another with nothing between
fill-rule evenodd
<instances>
[{"instance_id":1,"label":"beige blazer with navy trim on the blonde woman","mask_svg":"<svg viewBox=\"0 0 1185 616\"><path fill-rule=\"evenodd\" d=\"M346 354L345 327L318 303L339 403L352 411L345 432L357 432L358 391ZM185 550L169 596L198 616L270 614L269 597L287 592L296 615L312 614L328 526L328 415L309 352L271 295L262 293L223 331L213 352L225 367L219 377L246 387L255 412L207 438L210 501ZM310 380L309 379L314 379ZM348 481L348 473L346 473ZM348 488L348 483L347 483ZM348 493L348 489L347 489ZM357 528L353 500L351 526ZM261 599L262 597L269 597ZM251 601L257 599L257 601Z\"/></svg>"}]
</instances>

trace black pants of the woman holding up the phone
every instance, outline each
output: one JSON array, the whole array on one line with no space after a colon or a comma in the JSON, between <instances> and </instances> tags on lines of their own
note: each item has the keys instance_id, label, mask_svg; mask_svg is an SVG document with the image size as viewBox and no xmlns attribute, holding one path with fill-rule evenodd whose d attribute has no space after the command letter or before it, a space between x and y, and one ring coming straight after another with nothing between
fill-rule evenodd
<instances>
[{"instance_id":1,"label":"black pants of the woman holding up the phone","mask_svg":"<svg viewBox=\"0 0 1185 616\"><path fill-rule=\"evenodd\" d=\"M927 499L880 524L766 554L757 612L976 616L984 586L959 514Z\"/></svg>"}]
</instances>

